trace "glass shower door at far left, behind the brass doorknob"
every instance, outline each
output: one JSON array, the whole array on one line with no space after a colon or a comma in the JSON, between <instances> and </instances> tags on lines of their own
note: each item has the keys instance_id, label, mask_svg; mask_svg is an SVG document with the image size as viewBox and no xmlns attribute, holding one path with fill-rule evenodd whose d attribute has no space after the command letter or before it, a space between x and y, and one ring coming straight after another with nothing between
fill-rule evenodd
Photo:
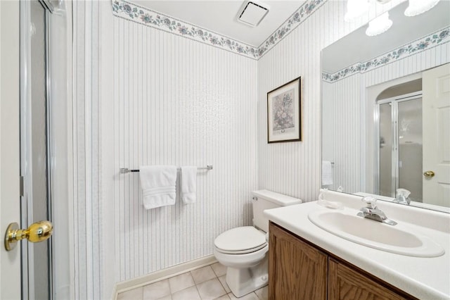
<instances>
[{"instance_id":1,"label":"glass shower door at far left, behind the brass doorknob","mask_svg":"<svg viewBox=\"0 0 450 300\"><path fill-rule=\"evenodd\" d=\"M49 168L49 11L41 1L21 3L21 175L22 227L51 221ZM52 299L52 239L23 244L23 299Z\"/></svg>"}]
</instances>

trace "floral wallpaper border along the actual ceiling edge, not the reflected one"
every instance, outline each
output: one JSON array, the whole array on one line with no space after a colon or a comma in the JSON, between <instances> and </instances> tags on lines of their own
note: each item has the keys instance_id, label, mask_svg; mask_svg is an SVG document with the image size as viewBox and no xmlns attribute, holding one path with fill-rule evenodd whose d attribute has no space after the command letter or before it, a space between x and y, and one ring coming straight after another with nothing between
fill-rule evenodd
<instances>
[{"instance_id":1,"label":"floral wallpaper border along the actual ceiling edge, not the reflected one","mask_svg":"<svg viewBox=\"0 0 450 300\"><path fill-rule=\"evenodd\" d=\"M250 46L235 39L219 35L205 28L186 23L182 20L163 15L143 8L139 5L132 4L125 0L111 0L113 4L113 15L131 20L133 22L154 27L166 32L172 32L174 35L194 39L198 42L210 44L218 48L234 52L253 59L259 59L269 49L274 47L288 33L294 30L300 23L311 15L321 4L328 0L309 0L283 23L270 37L268 37L259 47Z\"/></svg>"}]
</instances>

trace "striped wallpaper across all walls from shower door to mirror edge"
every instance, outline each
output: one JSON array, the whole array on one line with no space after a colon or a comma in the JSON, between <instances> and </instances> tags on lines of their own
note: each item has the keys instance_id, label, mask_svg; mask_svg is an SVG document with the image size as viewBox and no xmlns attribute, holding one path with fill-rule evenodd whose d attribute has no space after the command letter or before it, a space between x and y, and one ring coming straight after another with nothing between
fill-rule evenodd
<instances>
[{"instance_id":1,"label":"striped wallpaper across all walls from shower door to mirror edge","mask_svg":"<svg viewBox=\"0 0 450 300\"><path fill-rule=\"evenodd\" d=\"M400 1L352 24L344 1L327 1L259 61L73 1L75 299L212 254L220 232L251 223L253 189L314 200L320 51ZM298 76L303 142L267 144L266 92ZM138 175L118 172L154 164L214 169L198 173L195 204L146 211Z\"/></svg>"}]
</instances>

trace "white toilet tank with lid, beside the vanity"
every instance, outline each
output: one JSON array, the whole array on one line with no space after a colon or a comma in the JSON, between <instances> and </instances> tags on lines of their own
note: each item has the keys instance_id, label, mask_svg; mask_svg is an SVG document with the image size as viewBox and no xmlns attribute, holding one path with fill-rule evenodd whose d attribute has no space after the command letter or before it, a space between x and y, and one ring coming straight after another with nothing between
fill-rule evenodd
<instances>
[{"instance_id":1,"label":"white toilet tank with lid, beside the vanity","mask_svg":"<svg viewBox=\"0 0 450 300\"><path fill-rule=\"evenodd\" d=\"M269 219L264 217L264 213L262 213L264 210L302 203L302 200L298 198L271 192L267 189L253 191L252 196L253 225L264 232L269 232Z\"/></svg>"}]
</instances>

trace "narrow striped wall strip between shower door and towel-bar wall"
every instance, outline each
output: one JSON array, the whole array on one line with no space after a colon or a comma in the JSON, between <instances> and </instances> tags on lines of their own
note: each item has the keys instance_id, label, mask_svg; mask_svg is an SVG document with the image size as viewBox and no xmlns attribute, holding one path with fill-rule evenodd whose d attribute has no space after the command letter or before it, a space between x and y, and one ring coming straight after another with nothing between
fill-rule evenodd
<instances>
[{"instance_id":1,"label":"narrow striped wall strip between shower door and towel-bar wall","mask_svg":"<svg viewBox=\"0 0 450 300\"><path fill-rule=\"evenodd\" d=\"M75 299L104 299L98 113L98 1L73 1L72 118Z\"/></svg>"}]
</instances>

